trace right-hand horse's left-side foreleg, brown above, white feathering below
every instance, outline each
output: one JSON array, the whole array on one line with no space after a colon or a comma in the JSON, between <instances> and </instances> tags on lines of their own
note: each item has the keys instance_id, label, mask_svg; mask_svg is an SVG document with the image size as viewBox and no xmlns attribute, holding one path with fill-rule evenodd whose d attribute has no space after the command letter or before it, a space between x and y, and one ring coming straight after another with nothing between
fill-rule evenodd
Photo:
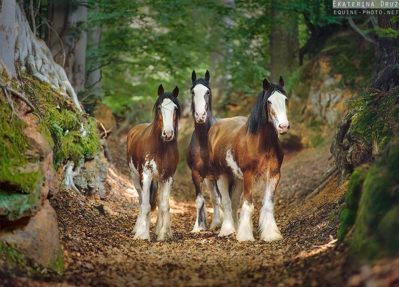
<instances>
[{"instance_id":1,"label":"right-hand horse's left-side foreleg, brown above, white feathering below","mask_svg":"<svg viewBox=\"0 0 399 287\"><path fill-rule=\"evenodd\" d=\"M244 203L242 204L240 212L240 221L238 224L238 232L236 239L238 241L254 241L253 238L253 200L252 200L252 187L254 178L252 174L244 174Z\"/></svg>"}]
</instances>

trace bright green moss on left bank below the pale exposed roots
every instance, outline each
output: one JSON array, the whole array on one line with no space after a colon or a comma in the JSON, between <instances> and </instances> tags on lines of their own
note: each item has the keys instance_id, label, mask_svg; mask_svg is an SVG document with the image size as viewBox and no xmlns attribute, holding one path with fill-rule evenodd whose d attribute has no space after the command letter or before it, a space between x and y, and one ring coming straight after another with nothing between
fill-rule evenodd
<instances>
[{"instance_id":1,"label":"bright green moss on left bank below the pale exposed roots","mask_svg":"<svg viewBox=\"0 0 399 287\"><path fill-rule=\"evenodd\" d=\"M84 159L94 157L100 148L94 119L79 114L73 104L65 102L49 84L29 75L24 75L24 79L29 82L25 92L40 111L41 129L46 131L44 134L52 135L54 168L58 169L68 160L79 165ZM81 123L84 123L86 136L82 136Z\"/></svg>"}]
</instances>

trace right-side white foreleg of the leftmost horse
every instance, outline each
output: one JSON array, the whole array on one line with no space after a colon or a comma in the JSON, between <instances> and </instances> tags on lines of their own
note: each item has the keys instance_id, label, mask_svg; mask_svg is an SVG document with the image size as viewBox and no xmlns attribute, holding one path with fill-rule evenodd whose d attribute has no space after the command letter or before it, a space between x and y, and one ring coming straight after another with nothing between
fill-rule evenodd
<instances>
[{"instance_id":1,"label":"right-side white foreleg of the leftmost horse","mask_svg":"<svg viewBox=\"0 0 399 287\"><path fill-rule=\"evenodd\" d=\"M162 219L159 220L159 223L162 223L162 227L158 233L158 241L163 241L167 239L173 239L172 228L171 228L171 218L169 214L170 204L169 197L172 189L173 177L168 178L165 182L161 183L160 197L158 208L161 213L158 212L158 216L162 216Z\"/></svg>"}]
</instances>

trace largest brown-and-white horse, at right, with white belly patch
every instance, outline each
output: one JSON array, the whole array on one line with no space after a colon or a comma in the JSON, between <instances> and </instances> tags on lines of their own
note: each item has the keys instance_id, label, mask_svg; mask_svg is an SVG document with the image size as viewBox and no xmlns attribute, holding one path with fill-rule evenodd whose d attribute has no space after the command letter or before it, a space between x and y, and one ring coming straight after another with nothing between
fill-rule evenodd
<instances>
[{"instance_id":1,"label":"largest brown-and-white horse, at right, with white belly patch","mask_svg":"<svg viewBox=\"0 0 399 287\"><path fill-rule=\"evenodd\" d=\"M288 98L283 87L281 76L278 85L264 79L263 91L248 118L222 119L209 130L209 160L224 211L218 236L227 236L237 230L238 241L254 240L252 189L257 182L263 181L266 188L259 218L260 238L264 241L282 239L274 219L274 192L284 157L278 134L284 135L290 129Z\"/></svg>"}]
</instances>

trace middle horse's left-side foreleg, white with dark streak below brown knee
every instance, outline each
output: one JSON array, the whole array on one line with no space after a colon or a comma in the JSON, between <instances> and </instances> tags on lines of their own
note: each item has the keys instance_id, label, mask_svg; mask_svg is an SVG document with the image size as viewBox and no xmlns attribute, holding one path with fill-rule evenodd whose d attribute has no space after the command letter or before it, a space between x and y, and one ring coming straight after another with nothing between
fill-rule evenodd
<instances>
[{"instance_id":1,"label":"middle horse's left-side foreleg, white with dark streak below brown knee","mask_svg":"<svg viewBox=\"0 0 399 287\"><path fill-rule=\"evenodd\" d=\"M205 200L203 199L203 196L202 196L202 181L203 181L203 179L201 178L200 174L196 170L193 170L191 175L193 177L194 186L196 187L196 208L197 208L196 223L191 232L197 233L197 232L200 232L201 230L207 229L207 225L206 225L207 214L206 214Z\"/></svg>"}]
</instances>

